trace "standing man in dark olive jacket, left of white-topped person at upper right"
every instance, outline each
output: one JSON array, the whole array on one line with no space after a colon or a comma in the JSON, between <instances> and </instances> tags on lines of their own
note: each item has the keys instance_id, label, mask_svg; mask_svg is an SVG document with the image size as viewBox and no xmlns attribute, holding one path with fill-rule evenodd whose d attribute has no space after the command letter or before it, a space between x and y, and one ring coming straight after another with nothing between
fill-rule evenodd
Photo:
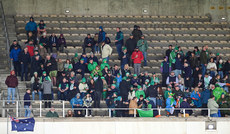
<instances>
[{"instance_id":1,"label":"standing man in dark olive jacket, left of white-topped person at upper right","mask_svg":"<svg viewBox=\"0 0 230 134\"><path fill-rule=\"evenodd\" d=\"M201 71L202 71L202 77L204 77L205 73L206 73L206 67L208 64L208 55L206 52L206 47L203 46L202 47L202 51L200 53L200 64L201 64Z\"/></svg>"}]
</instances>

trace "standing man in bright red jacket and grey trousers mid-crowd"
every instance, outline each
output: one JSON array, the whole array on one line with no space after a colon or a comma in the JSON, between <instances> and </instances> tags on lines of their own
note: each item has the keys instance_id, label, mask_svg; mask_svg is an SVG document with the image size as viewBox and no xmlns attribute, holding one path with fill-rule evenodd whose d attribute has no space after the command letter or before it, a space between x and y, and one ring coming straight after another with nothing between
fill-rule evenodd
<instances>
[{"instance_id":1,"label":"standing man in bright red jacket and grey trousers mid-crowd","mask_svg":"<svg viewBox=\"0 0 230 134\"><path fill-rule=\"evenodd\" d=\"M139 48L136 47L135 51L132 54L132 60L134 64L134 74L139 75L141 71L141 61L144 59L144 56Z\"/></svg>"}]
</instances>

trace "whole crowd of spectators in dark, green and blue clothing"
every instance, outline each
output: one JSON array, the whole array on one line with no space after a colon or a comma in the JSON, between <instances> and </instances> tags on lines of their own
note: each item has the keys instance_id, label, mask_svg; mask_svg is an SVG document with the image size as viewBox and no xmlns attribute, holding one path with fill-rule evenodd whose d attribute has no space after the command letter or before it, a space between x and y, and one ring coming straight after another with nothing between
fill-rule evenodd
<instances>
[{"instance_id":1,"label":"whole crowd of spectators in dark, green and blue clothing","mask_svg":"<svg viewBox=\"0 0 230 134\"><path fill-rule=\"evenodd\" d=\"M10 47L14 70L5 82L7 104L15 104L19 76L21 81L30 80L32 100L38 94L39 100L45 101L45 108L52 107L49 100L53 100L57 92L58 100L69 101L72 108L100 108L104 100L111 109L166 108L167 116L178 116L181 111L174 108L211 108L212 117L230 114L229 110L218 111L218 108L230 106L230 59L224 62L220 54L212 53L207 45L200 47L201 50L196 46L194 51L186 53L180 46L169 45L160 65L160 82L156 73L141 70L141 66L148 66L148 43L139 26L134 26L127 40L124 40L122 29L116 28L114 42L120 64L114 66L109 64L114 51L111 39L102 26L94 37L87 34L80 56L76 52L65 62L58 55L68 45L63 34L57 37L52 33L47 37L44 21L36 24L33 17L25 29L28 39L25 46L15 40ZM86 54L87 48L91 50L90 55ZM29 94L27 90L24 100L30 100ZM30 115L30 107L31 103L25 102L25 116ZM54 108L48 116L53 116L52 111ZM156 116L157 112L153 112ZM112 110L112 116L116 117L132 117L134 113L132 109ZM193 111L186 110L186 114L191 115ZM208 111L202 110L201 114L206 116ZM67 117L73 116L82 117L82 110L69 110ZM91 110L87 116L91 116Z\"/></svg>"}]
</instances>

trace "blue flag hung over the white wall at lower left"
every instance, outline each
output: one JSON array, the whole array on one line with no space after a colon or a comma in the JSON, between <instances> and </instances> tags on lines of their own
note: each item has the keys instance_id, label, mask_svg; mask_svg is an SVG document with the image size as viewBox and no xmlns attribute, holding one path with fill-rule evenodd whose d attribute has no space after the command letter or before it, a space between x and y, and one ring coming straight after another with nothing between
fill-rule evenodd
<instances>
[{"instance_id":1,"label":"blue flag hung over the white wall at lower left","mask_svg":"<svg viewBox=\"0 0 230 134\"><path fill-rule=\"evenodd\" d=\"M28 119L15 119L10 117L12 131L25 132L25 131L34 131L35 120L34 118Z\"/></svg>"}]
</instances>

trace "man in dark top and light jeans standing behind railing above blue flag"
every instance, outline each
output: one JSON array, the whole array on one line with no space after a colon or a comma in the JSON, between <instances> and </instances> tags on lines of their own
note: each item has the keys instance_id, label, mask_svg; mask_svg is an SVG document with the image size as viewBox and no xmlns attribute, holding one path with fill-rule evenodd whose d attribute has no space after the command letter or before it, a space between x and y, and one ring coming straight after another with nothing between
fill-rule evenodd
<instances>
[{"instance_id":1,"label":"man in dark top and light jeans standing behind railing above blue flag","mask_svg":"<svg viewBox=\"0 0 230 134\"><path fill-rule=\"evenodd\" d=\"M25 117L30 117L30 113L31 113L30 89L27 89L26 94L24 95L24 108L25 108Z\"/></svg>"}]
</instances>

